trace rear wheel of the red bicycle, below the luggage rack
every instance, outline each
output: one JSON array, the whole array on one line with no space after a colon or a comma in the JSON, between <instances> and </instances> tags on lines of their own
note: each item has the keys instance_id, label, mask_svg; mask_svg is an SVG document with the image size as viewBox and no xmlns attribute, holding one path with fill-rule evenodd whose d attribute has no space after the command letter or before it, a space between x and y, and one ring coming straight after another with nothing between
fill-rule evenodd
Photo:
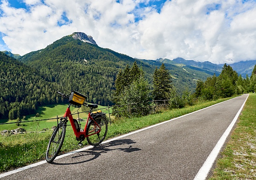
<instances>
[{"instance_id":1,"label":"rear wheel of the red bicycle, below the luggage rack","mask_svg":"<svg viewBox=\"0 0 256 180\"><path fill-rule=\"evenodd\" d=\"M90 145L92 146L98 146L102 141L105 139L107 132L108 132L108 121L104 116L99 116L94 119L96 123L99 125L101 128L101 131L99 133L93 134L97 131L99 131L99 127L96 125L95 121L90 120L87 128L86 128L86 135L87 136L87 141Z\"/></svg>"}]
</instances>

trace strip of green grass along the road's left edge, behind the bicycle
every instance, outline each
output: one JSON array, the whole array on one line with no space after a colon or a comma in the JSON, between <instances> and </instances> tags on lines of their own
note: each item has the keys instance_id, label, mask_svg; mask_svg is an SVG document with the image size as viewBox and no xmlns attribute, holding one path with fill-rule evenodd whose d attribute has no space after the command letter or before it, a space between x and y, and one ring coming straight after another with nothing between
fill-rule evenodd
<instances>
[{"instance_id":1,"label":"strip of green grass along the road's left edge, behind the bicycle","mask_svg":"<svg viewBox=\"0 0 256 180\"><path fill-rule=\"evenodd\" d=\"M106 139L185 115L228 99L230 98L204 102L182 109L167 110L163 113L152 114L141 118L119 119L109 126ZM50 135L51 132L36 132L10 136L0 135L0 172L43 160ZM68 126L61 153L79 149L77 143L72 128ZM87 145L87 141L84 141L84 145Z\"/></svg>"}]
</instances>

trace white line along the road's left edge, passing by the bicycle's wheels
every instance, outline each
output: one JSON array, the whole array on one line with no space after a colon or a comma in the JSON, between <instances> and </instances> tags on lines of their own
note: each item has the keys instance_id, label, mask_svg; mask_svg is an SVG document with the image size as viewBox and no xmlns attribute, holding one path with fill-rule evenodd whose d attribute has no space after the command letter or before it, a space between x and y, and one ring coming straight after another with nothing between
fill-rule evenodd
<instances>
[{"instance_id":1,"label":"white line along the road's left edge, passing by the bicycle's wheels","mask_svg":"<svg viewBox=\"0 0 256 180\"><path fill-rule=\"evenodd\" d=\"M247 98L248 98L248 97L247 97ZM246 100L247 100L247 98L246 98ZM227 100L227 101L230 101L230 100L231 100L231 99L229 99L229 100ZM245 100L245 101L246 101L246 100ZM223 101L223 102L227 102L227 101ZM244 101L244 104L245 104L245 101ZM221 104L221 103L223 103L223 102L220 102L220 103L218 103L218 104ZM218 105L218 104L213 104L212 106L215 106L215 105ZM243 106L244 106L244 104L243 104ZM209 107L212 107L212 106L209 106ZM243 107L243 106L242 106L242 107ZM207 108L209 108L209 107L205 107L204 109L201 109L201 110L205 110L205 109L207 109ZM241 109L242 109L242 108L241 108ZM197 110L197 111L194 111L194 112L189 113L189 114L186 114L186 115L190 115L190 114L196 113L196 112L201 111L201 110ZM240 114L240 113L238 113L238 114ZM158 124L154 124L154 125L152 125L152 126L150 126L150 127L145 127L145 128L143 128L143 129L139 129L139 130L134 131L134 132L129 132L128 134L121 135L121 136L118 136L118 137L116 137L116 138L109 139L109 140L107 140L107 141L103 141L102 144L109 143L109 142L111 142L111 141L115 141L115 140L117 140L117 139L124 138L124 137L126 137L126 136L128 136L128 135L132 135L132 134L135 134L135 133L137 133L137 132L144 131L144 130L146 130L146 129L150 129L150 128L152 128L152 127L156 127L156 126L158 126L158 125L168 123L168 122L173 121L173 120L175 120L175 119L182 118L182 117L184 117L184 116L186 116L186 115L182 115L182 116L180 116L180 117L173 118L173 119L170 119L170 120L168 120L168 121L164 121L164 122L161 122L161 123L158 123ZM84 147L84 148L77 149L76 151L68 152L68 153L63 154L63 155L59 155L59 156L57 156L55 159L64 158L64 157L66 157L66 156L73 155L73 154L75 154L75 153L77 153L77 152L82 152L82 151L84 151L84 150L91 149L91 148L93 148L93 146L86 146L86 147ZM213 161L213 162L214 162L214 161ZM46 161L46 160L43 160L43 161L40 161L40 162L38 162L38 163L30 164L29 166L25 166L25 167L22 167L22 168L19 168L19 169L15 169L15 170L13 170L13 171L9 171L9 172L0 174L0 178L6 177L6 176L11 175L11 174L15 174L15 173L17 173L17 172L20 172L20 171L23 171L23 170L26 170L26 169L30 169L30 168L35 167L35 166L39 166L39 165L44 164L44 163L47 163L47 161ZM211 166L212 166L212 165L211 165ZM202 168L201 168L201 169L202 169ZM207 172L207 173L208 173L208 172ZM198 180L199 180L199 179L198 179Z\"/></svg>"}]
</instances>

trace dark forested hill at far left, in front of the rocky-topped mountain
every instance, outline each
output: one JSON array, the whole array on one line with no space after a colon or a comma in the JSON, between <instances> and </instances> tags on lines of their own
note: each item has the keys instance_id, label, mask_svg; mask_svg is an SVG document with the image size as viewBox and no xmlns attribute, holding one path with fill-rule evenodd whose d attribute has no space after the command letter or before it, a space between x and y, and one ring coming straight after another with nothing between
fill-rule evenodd
<instances>
[{"instance_id":1,"label":"dark forested hill at far left, in front of the rocky-topped mountain","mask_svg":"<svg viewBox=\"0 0 256 180\"><path fill-rule=\"evenodd\" d=\"M35 113L43 104L56 103L58 84L47 82L38 72L0 52L0 118L16 119Z\"/></svg>"}]
</instances>

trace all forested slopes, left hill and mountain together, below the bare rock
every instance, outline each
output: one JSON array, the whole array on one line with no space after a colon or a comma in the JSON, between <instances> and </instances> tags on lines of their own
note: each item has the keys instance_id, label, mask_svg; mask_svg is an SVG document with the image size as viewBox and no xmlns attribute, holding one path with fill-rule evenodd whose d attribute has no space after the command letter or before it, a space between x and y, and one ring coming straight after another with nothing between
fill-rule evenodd
<instances>
[{"instance_id":1,"label":"all forested slopes, left hill and mountain together, below the bare rock","mask_svg":"<svg viewBox=\"0 0 256 180\"><path fill-rule=\"evenodd\" d=\"M100 48L97 45L63 37L46 48L21 56L18 61L1 53L0 118L15 119L35 112L42 104L61 101L56 91L72 90L87 96L87 101L113 105L114 81L119 70L137 61L152 88L152 77L161 62L138 60ZM188 67L166 64L178 94L195 91L196 82L209 74ZM62 102L62 101L61 101Z\"/></svg>"}]
</instances>

